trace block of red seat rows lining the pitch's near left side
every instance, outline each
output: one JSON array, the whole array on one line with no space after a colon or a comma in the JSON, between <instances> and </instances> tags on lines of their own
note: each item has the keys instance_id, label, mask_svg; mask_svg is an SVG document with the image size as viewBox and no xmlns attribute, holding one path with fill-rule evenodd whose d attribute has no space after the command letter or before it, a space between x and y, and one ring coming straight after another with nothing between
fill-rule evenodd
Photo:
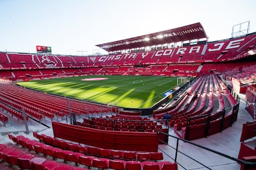
<instances>
[{"instance_id":1,"label":"block of red seat rows lining the pitch's near left side","mask_svg":"<svg viewBox=\"0 0 256 170\"><path fill-rule=\"evenodd\" d=\"M53 119L54 114L59 113L60 110L64 110L62 111L63 114L69 114L67 111L67 99L23 89L19 86L15 86L11 81L5 81L4 79L0 81L0 85L0 90L2 91L0 104L3 105L1 108L4 108L4 105L6 104L16 108L17 110L24 108L28 115L39 120L45 116ZM49 100L52 102L49 103ZM4 110L7 110L18 118L22 118L22 114L17 113L19 112L17 110L11 108L4 108ZM74 113L80 113L81 110L85 110L82 114L86 115L87 113L114 112L116 111L116 108L96 103L70 100L70 110ZM63 114L62 116L64 116Z\"/></svg>"}]
</instances>

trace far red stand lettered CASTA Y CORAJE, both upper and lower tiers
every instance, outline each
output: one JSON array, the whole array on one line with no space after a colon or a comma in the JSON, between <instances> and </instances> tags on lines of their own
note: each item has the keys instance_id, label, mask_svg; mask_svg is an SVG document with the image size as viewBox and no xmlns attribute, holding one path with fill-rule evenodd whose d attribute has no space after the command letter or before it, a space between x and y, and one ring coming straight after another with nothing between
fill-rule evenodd
<instances>
[{"instance_id":1,"label":"far red stand lettered CASTA Y CORAJE, both upper and lower tiers","mask_svg":"<svg viewBox=\"0 0 256 170\"><path fill-rule=\"evenodd\" d=\"M43 76L69 76L83 74L109 75L165 75L198 76L208 71L227 71L239 68L237 62L254 51L255 34L207 44L172 49L161 49L132 54L113 54L93 57L67 55L38 55L1 53L1 77L15 79L33 79ZM246 52L246 53L245 53ZM224 63L227 62L228 63ZM213 63L212 63L213 62ZM222 62L222 63L217 63ZM160 67L161 65L166 67ZM147 70L135 65L151 65ZM158 66L160 65L160 66ZM247 70L250 70L248 64ZM127 67L124 67L127 66ZM12 68L12 70L10 70ZM54 68L54 69L53 69ZM61 71L59 69L61 68ZM69 70L73 68L73 70ZM134 73L136 71L136 73ZM11 71L11 73L10 73ZM158 72L161 72L158 74ZM239 75L238 75L239 76Z\"/></svg>"}]
</instances>

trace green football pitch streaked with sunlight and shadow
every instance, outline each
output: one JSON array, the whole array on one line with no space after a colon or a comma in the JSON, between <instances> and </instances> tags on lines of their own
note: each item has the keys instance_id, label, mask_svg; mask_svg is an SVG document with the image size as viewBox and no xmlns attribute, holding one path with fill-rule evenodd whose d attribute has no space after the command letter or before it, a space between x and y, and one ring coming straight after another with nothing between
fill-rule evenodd
<instances>
[{"instance_id":1,"label":"green football pitch streaked with sunlight and shadow","mask_svg":"<svg viewBox=\"0 0 256 170\"><path fill-rule=\"evenodd\" d=\"M179 87L186 82L178 84ZM162 76L80 76L17 83L20 86L80 100L126 108L150 108L175 91L177 78Z\"/></svg>"}]
</instances>

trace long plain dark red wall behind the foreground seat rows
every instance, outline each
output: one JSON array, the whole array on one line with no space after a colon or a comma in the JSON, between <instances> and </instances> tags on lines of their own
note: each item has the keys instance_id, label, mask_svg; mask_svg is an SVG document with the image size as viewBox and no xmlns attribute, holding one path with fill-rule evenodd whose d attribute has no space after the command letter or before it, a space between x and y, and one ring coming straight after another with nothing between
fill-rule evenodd
<instances>
[{"instance_id":1,"label":"long plain dark red wall behind the foreground seat rows","mask_svg":"<svg viewBox=\"0 0 256 170\"><path fill-rule=\"evenodd\" d=\"M149 132L102 131L52 122L54 137L114 150L158 152L158 135Z\"/></svg>"}]
</instances>

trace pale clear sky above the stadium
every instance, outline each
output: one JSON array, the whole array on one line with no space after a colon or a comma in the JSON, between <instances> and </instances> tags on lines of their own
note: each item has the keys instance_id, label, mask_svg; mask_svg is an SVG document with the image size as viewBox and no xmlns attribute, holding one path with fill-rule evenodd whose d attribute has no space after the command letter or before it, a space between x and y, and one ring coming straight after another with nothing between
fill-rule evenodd
<instances>
[{"instance_id":1,"label":"pale clear sky above the stadium","mask_svg":"<svg viewBox=\"0 0 256 170\"><path fill-rule=\"evenodd\" d=\"M255 6L255 0L0 0L0 51L50 46L53 54L106 54L95 45L197 22L216 41L247 21L255 32Z\"/></svg>"}]
</instances>

